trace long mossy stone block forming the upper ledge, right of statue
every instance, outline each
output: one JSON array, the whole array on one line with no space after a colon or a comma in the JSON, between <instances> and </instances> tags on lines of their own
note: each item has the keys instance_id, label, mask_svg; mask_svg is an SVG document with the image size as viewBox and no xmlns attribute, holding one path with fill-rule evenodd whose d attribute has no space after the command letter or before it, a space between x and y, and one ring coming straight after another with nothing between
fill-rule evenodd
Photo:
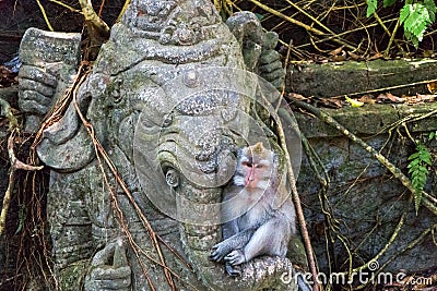
<instances>
[{"instance_id":1,"label":"long mossy stone block forming the upper ledge, right of statue","mask_svg":"<svg viewBox=\"0 0 437 291\"><path fill-rule=\"evenodd\" d=\"M437 78L437 60L303 63L287 74L287 88L304 96L332 97ZM391 89L392 94L427 93L426 84Z\"/></svg>"}]
</instances>

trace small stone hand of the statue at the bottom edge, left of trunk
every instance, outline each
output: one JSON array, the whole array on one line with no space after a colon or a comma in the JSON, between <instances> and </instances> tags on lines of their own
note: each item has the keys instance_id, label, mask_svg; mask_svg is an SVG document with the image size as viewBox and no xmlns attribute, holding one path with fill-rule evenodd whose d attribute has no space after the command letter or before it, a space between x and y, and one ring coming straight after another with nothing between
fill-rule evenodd
<instances>
[{"instance_id":1,"label":"small stone hand of the statue at the bottom edge, left of trunk","mask_svg":"<svg viewBox=\"0 0 437 291\"><path fill-rule=\"evenodd\" d=\"M131 268L121 238L106 244L92 260L92 270L85 278L85 291L131 290Z\"/></svg>"}]
</instances>

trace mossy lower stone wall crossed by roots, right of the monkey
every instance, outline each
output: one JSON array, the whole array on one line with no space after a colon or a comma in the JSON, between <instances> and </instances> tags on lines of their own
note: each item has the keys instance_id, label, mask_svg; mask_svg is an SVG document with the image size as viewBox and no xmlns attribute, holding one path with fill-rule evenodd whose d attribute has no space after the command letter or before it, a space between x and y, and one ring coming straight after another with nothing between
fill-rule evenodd
<instances>
[{"instance_id":1,"label":"mossy lower stone wall crossed by roots, right of the monkey","mask_svg":"<svg viewBox=\"0 0 437 291\"><path fill-rule=\"evenodd\" d=\"M432 112L436 108L436 104L432 102L416 106L366 105L361 108L322 110L345 125L350 132L365 138L376 150L381 150L382 155L406 173L408 157L414 153L414 144L409 138L400 137L395 131L390 137L388 126L408 114ZM330 186L326 198L333 218L340 222L340 233L347 238L352 247L354 266L373 258L385 247L404 213L405 223L394 243L378 258L379 266L392 259L397 252L437 222L436 217L425 207L421 207L418 215L415 215L413 204L409 203L411 193L364 148L320 120L300 113L295 116L300 131L309 138L329 174ZM436 131L435 119L435 116L432 116L409 123L411 134L427 135L428 132ZM434 150L435 143L430 144L430 147ZM330 248L331 254L335 254L334 257L327 255L327 218L320 210L320 201L324 198L319 197L322 195L320 184L306 156L297 184L304 205L309 206L306 207L305 215L310 226L319 266L322 271L328 272L329 264L332 268L334 260L339 264L344 262L347 259L347 253L343 245L336 242ZM436 193L433 173L429 173L425 191ZM395 276L401 269L412 272L432 268L437 262L437 252L430 241L429 237L425 238L412 250L397 256L382 271L390 271ZM342 270L340 265L334 268Z\"/></svg>"}]
</instances>

